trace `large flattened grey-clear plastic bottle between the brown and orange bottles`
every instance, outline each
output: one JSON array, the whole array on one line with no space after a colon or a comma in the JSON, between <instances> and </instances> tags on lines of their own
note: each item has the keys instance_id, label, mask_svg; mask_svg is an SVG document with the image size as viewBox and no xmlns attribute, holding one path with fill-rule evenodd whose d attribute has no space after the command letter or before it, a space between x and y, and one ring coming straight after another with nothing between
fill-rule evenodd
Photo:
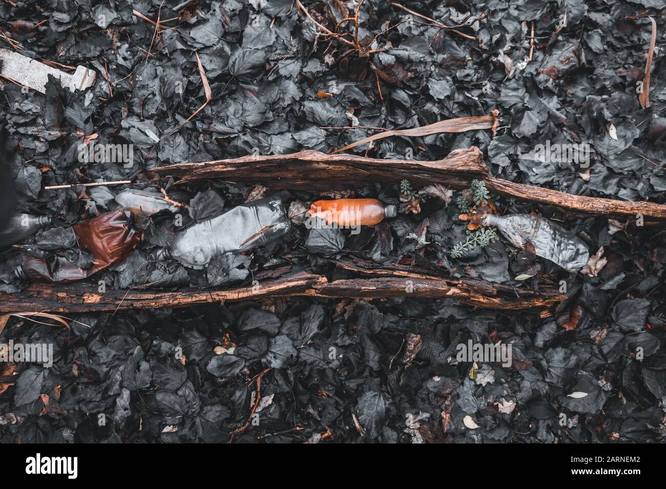
<instances>
[{"instance_id":1,"label":"large flattened grey-clear plastic bottle between the brown and orange bottles","mask_svg":"<svg viewBox=\"0 0 666 489\"><path fill-rule=\"evenodd\" d=\"M280 198L254 200L190 226L159 253L158 259L172 258L186 267L203 268L217 255L274 242L290 228Z\"/></svg>"}]
</instances>

